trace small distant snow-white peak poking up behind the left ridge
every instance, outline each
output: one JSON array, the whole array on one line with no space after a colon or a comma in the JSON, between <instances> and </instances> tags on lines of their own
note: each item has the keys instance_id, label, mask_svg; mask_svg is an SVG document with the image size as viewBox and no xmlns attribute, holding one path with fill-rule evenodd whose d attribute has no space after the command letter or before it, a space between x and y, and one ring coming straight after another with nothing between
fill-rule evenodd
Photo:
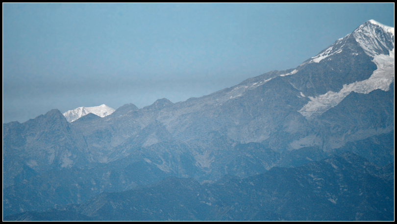
<instances>
[{"instance_id":1,"label":"small distant snow-white peak poking up behind the left ridge","mask_svg":"<svg viewBox=\"0 0 397 224\"><path fill-rule=\"evenodd\" d=\"M99 117L103 118L106 117L110 114L112 114L115 111L115 109L106 106L105 104L102 104L100 106L93 106L93 107L78 107L74 110L68 110L65 113L63 113L63 116L65 116L66 120L68 122L74 122L75 120L81 118L82 116L85 116L89 113L93 113L95 115L98 115Z\"/></svg>"}]
</instances>

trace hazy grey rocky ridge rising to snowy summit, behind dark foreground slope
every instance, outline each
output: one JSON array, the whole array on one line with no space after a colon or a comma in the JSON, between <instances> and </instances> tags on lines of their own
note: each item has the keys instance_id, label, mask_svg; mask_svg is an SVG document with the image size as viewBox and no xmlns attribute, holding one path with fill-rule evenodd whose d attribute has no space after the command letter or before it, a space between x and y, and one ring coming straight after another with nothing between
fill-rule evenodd
<instances>
[{"instance_id":1,"label":"hazy grey rocky ridge rising to snowy summit, behind dark foreground slope","mask_svg":"<svg viewBox=\"0 0 397 224\"><path fill-rule=\"evenodd\" d=\"M73 123L51 110L23 124L3 124L3 214L81 203L167 176L247 178L341 151L387 166L394 161L392 133L394 28L369 21L295 69L200 98L161 99L142 109L125 104L109 116L87 114ZM181 212L183 219L199 219ZM229 215L247 218L237 214ZM304 219L282 219L294 218Z\"/></svg>"}]
</instances>

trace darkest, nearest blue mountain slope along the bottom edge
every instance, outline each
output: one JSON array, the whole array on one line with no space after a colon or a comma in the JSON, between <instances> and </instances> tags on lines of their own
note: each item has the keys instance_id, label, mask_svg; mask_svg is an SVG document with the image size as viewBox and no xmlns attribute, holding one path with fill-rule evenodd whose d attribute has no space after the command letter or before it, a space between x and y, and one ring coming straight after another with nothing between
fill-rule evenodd
<instances>
[{"instance_id":1,"label":"darkest, nearest blue mountain slope along the bottom edge","mask_svg":"<svg viewBox=\"0 0 397 224\"><path fill-rule=\"evenodd\" d=\"M379 167L342 153L297 168L273 168L215 183L168 177L150 186L102 193L81 204L6 220L43 221L369 221L394 219L393 183Z\"/></svg>"}]
</instances>

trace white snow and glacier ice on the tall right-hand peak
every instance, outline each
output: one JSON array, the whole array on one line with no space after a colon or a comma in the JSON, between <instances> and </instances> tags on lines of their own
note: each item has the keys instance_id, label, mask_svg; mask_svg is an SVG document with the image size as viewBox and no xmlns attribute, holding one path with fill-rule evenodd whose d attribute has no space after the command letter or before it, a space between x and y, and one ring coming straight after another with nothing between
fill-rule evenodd
<instances>
[{"instance_id":1,"label":"white snow and glacier ice on the tall right-hand peak","mask_svg":"<svg viewBox=\"0 0 397 224\"><path fill-rule=\"evenodd\" d=\"M303 116L322 114L341 102L351 92L368 94L376 89L388 91L391 83L394 82L394 27L370 20L360 25L351 34L339 39L336 44L350 35L355 38L364 52L372 57L372 62L376 64L377 69L373 71L370 78L345 84L339 92L329 91L323 95L309 97L310 101L298 111ZM319 55L323 56L323 54ZM320 56L316 56L312 61L321 58Z\"/></svg>"}]
</instances>

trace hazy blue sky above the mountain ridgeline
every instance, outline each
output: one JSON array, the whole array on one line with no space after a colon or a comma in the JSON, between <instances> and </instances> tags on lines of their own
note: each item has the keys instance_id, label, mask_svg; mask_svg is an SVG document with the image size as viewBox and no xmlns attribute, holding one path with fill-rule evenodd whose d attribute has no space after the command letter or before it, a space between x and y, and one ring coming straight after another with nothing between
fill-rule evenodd
<instances>
[{"instance_id":1,"label":"hazy blue sky above the mountain ridgeline","mask_svg":"<svg viewBox=\"0 0 397 224\"><path fill-rule=\"evenodd\" d=\"M200 97L306 59L394 3L3 3L3 123Z\"/></svg>"}]
</instances>

